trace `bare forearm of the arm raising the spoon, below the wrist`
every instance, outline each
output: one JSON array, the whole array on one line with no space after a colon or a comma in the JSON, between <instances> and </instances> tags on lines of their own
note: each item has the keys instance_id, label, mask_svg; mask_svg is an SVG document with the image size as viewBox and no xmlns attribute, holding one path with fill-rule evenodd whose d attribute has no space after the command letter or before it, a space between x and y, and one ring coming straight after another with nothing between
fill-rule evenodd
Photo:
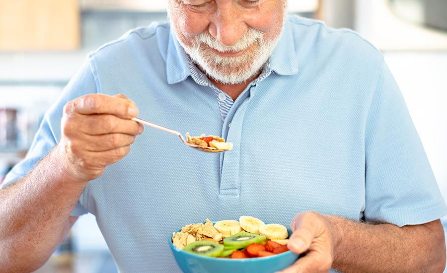
<instances>
[{"instance_id":1,"label":"bare forearm of the arm raising the spoon, below the wrist","mask_svg":"<svg viewBox=\"0 0 447 273\"><path fill-rule=\"evenodd\" d=\"M65 174L57 150L0 191L0 272L41 266L74 222L70 213L87 182Z\"/></svg>"}]
</instances>

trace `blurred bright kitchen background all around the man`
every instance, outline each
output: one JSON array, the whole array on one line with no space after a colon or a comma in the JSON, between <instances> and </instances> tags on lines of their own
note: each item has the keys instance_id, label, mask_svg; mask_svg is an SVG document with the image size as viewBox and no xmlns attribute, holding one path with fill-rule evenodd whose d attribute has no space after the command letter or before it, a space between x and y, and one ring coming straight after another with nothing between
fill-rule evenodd
<instances>
[{"instance_id":1,"label":"blurred bright kitchen background all around the man","mask_svg":"<svg viewBox=\"0 0 447 273\"><path fill-rule=\"evenodd\" d=\"M0 183L87 54L131 28L166 21L165 2L0 0ZM447 198L447 1L290 0L289 7L354 29L384 54ZM95 217L84 215L37 272L117 270Z\"/></svg>"}]
</instances>

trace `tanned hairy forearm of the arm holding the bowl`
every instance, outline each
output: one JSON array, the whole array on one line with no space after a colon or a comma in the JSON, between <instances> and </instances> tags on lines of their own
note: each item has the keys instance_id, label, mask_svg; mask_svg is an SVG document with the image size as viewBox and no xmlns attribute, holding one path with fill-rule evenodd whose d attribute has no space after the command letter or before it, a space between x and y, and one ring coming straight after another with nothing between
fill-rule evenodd
<instances>
[{"instance_id":1,"label":"tanned hairy forearm of the arm holding the bowl","mask_svg":"<svg viewBox=\"0 0 447 273\"><path fill-rule=\"evenodd\" d=\"M440 221L397 227L325 216L334 234L333 267L350 272L443 272L446 261Z\"/></svg>"}]
</instances>

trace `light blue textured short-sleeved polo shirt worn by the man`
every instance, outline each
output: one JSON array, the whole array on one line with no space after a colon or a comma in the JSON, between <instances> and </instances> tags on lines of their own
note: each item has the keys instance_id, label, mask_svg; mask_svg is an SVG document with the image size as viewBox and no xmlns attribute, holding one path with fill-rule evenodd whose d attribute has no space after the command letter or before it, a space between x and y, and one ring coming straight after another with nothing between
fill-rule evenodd
<instances>
[{"instance_id":1,"label":"light blue textured short-sleeved polo shirt worn by the man","mask_svg":"<svg viewBox=\"0 0 447 273\"><path fill-rule=\"evenodd\" d=\"M188 61L169 24L132 30L91 54L6 184L56 145L63 106L87 93L123 93L143 119L234 144L199 152L146 128L87 185L73 215L96 215L121 272L179 272L168 240L206 218L289 226L315 210L402 226L447 211L383 57L346 29L290 17L262 75L234 103Z\"/></svg>"}]
</instances>

